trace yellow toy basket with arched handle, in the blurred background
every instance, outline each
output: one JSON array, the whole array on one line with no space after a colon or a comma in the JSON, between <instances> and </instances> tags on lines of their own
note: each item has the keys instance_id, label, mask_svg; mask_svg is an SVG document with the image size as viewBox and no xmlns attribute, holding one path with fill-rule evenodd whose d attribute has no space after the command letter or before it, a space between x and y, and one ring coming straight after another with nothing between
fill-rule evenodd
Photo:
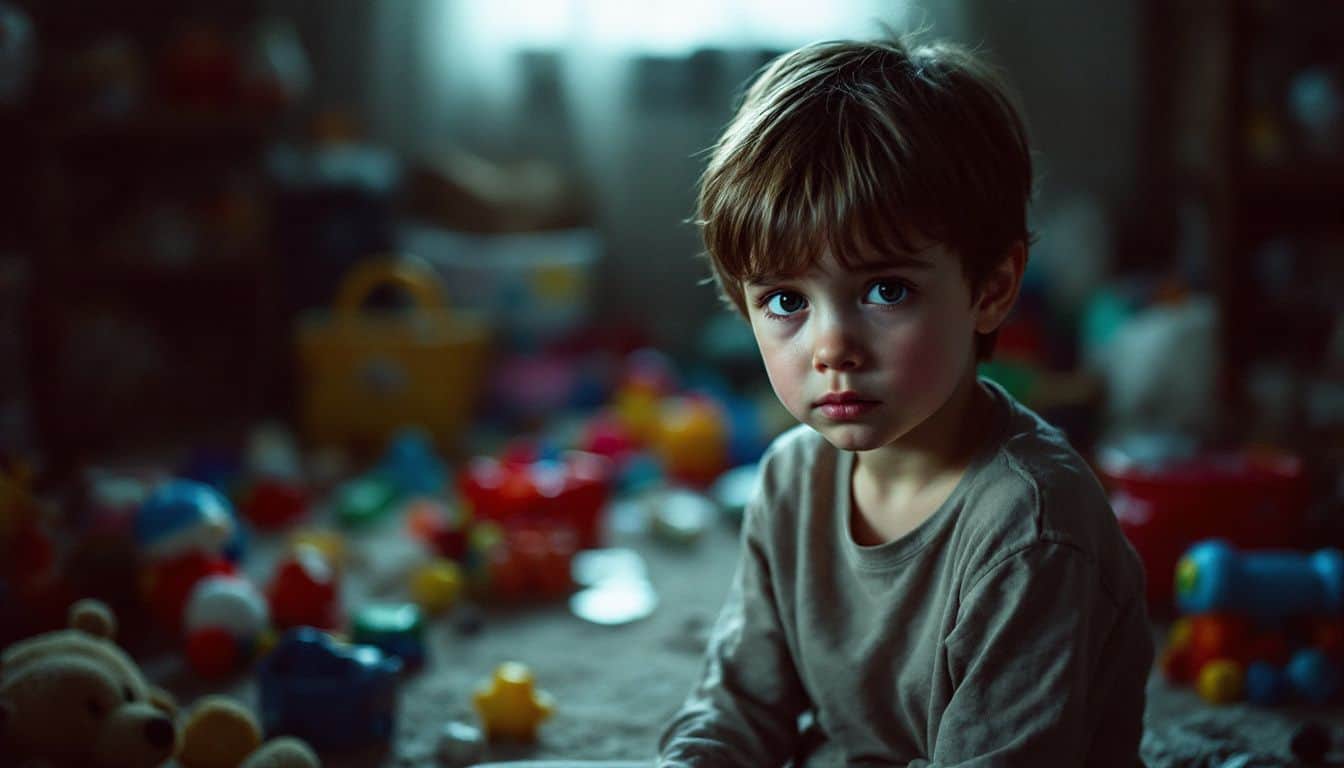
<instances>
[{"instance_id":1,"label":"yellow toy basket with arched handle, in the blurred background","mask_svg":"<svg viewBox=\"0 0 1344 768\"><path fill-rule=\"evenodd\" d=\"M405 289L410 312L371 312L368 296ZM370 260L341 282L331 312L297 328L301 424L314 444L382 447L418 426L452 447L472 414L489 356L489 328L444 303L430 268Z\"/></svg>"}]
</instances>

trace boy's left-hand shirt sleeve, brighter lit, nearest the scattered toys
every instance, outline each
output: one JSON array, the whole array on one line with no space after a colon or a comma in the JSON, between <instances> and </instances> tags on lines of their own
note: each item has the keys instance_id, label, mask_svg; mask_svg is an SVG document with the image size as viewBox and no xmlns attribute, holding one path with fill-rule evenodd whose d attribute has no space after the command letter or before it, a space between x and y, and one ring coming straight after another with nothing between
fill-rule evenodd
<instances>
[{"instance_id":1,"label":"boy's left-hand shirt sleeve, brighter lit, nearest the scattered toys","mask_svg":"<svg viewBox=\"0 0 1344 768\"><path fill-rule=\"evenodd\" d=\"M659 765L784 765L808 697L780 623L759 502L743 521L742 554L710 636L699 682L663 732Z\"/></svg>"}]
</instances>

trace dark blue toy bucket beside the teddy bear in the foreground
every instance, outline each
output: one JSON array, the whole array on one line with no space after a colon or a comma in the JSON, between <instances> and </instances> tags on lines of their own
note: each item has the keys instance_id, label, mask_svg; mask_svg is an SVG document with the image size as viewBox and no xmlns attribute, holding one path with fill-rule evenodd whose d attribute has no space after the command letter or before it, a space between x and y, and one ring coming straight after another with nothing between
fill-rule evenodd
<instances>
[{"instance_id":1,"label":"dark blue toy bucket beside the teddy bear in the foreground","mask_svg":"<svg viewBox=\"0 0 1344 768\"><path fill-rule=\"evenodd\" d=\"M267 734L297 736L317 749L386 744L396 725L402 662L372 646L292 629L258 670Z\"/></svg>"}]
</instances>

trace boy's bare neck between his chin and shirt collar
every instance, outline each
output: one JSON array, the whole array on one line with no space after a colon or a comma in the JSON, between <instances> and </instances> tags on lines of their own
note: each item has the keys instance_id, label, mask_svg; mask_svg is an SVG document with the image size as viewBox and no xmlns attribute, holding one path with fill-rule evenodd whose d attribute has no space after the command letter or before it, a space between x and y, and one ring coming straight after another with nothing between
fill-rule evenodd
<instances>
[{"instance_id":1,"label":"boy's bare neck between his chin and shirt collar","mask_svg":"<svg viewBox=\"0 0 1344 768\"><path fill-rule=\"evenodd\" d=\"M980 386L972 366L948 402L923 424L895 443L860 452L855 472L864 476L864 484L879 498L896 500L945 480L949 473L960 475L984 440L991 408L991 395Z\"/></svg>"}]
</instances>

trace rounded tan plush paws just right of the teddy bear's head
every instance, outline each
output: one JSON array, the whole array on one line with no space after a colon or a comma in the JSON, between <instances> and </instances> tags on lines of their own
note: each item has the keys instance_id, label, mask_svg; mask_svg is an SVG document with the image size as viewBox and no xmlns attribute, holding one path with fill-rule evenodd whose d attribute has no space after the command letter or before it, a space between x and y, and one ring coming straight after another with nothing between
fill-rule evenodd
<instances>
[{"instance_id":1,"label":"rounded tan plush paws just right of the teddy bear's head","mask_svg":"<svg viewBox=\"0 0 1344 768\"><path fill-rule=\"evenodd\" d=\"M181 729L183 768L320 768L308 744L282 737L262 744L255 716L237 701L210 695L196 702Z\"/></svg>"}]
</instances>

